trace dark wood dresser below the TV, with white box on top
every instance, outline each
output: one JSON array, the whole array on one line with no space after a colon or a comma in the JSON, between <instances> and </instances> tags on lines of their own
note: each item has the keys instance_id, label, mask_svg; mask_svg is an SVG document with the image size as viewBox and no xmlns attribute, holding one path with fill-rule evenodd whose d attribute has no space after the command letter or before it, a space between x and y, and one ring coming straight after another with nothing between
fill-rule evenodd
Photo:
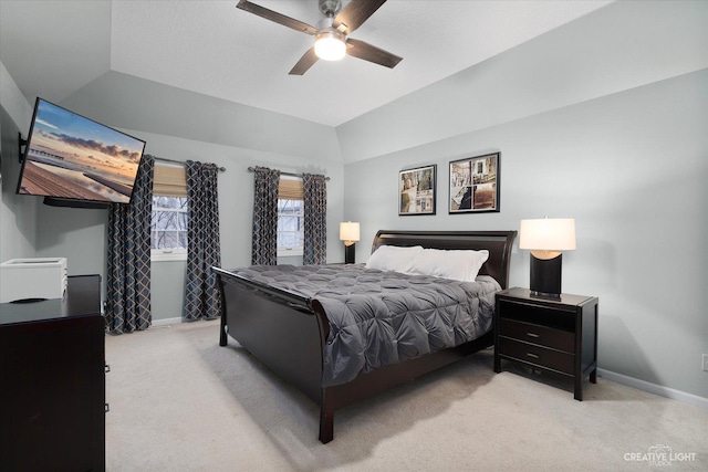
<instances>
[{"instance_id":1,"label":"dark wood dresser below the TV, with white box on top","mask_svg":"<svg viewBox=\"0 0 708 472\"><path fill-rule=\"evenodd\" d=\"M101 276L63 298L0 304L0 470L105 470Z\"/></svg>"}]
</instances>

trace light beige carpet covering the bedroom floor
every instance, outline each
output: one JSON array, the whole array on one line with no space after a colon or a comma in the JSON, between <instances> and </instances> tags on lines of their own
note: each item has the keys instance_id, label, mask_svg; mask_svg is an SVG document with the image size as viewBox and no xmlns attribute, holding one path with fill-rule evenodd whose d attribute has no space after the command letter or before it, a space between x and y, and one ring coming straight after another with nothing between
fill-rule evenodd
<instances>
[{"instance_id":1,"label":"light beige carpet covering the bedroom floor","mask_svg":"<svg viewBox=\"0 0 708 472\"><path fill-rule=\"evenodd\" d=\"M708 470L708 410L602 378L575 401L491 350L337 412L321 444L317 407L218 329L106 337L108 471Z\"/></svg>"}]
</instances>

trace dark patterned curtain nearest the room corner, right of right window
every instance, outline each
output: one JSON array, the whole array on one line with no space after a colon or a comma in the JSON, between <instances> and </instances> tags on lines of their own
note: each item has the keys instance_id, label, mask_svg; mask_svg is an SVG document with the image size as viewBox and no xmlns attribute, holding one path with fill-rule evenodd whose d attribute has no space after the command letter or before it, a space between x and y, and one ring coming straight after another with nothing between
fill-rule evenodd
<instances>
[{"instance_id":1,"label":"dark patterned curtain nearest the room corner, right of right window","mask_svg":"<svg viewBox=\"0 0 708 472\"><path fill-rule=\"evenodd\" d=\"M324 176L302 175L304 199L304 265L325 264L327 259L327 186Z\"/></svg>"}]
</instances>

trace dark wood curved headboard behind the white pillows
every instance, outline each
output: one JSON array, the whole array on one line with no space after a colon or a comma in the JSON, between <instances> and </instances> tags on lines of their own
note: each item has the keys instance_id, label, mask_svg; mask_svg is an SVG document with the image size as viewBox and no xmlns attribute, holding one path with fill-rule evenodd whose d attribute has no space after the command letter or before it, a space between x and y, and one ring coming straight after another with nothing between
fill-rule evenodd
<instances>
[{"instance_id":1,"label":"dark wood curved headboard behind the white pillows","mask_svg":"<svg viewBox=\"0 0 708 472\"><path fill-rule=\"evenodd\" d=\"M372 252L379 245L421 245L429 249L487 249L489 259L480 274L491 275L502 289L509 286L509 263L517 231L386 231L374 237Z\"/></svg>"}]
</instances>

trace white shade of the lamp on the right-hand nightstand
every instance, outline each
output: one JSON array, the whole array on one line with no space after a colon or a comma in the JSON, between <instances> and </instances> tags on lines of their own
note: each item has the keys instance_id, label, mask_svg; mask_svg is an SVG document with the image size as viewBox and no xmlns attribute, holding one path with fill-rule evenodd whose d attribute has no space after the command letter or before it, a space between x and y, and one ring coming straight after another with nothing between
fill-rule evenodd
<instances>
[{"instance_id":1,"label":"white shade of the lamp on the right-hand nightstand","mask_svg":"<svg viewBox=\"0 0 708 472\"><path fill-rule=\"evenodd\" d=\"M572 251L575 249L575 220L573 218L521 220L519 248L542 251Z\"/></svg>"}]
</instances>

